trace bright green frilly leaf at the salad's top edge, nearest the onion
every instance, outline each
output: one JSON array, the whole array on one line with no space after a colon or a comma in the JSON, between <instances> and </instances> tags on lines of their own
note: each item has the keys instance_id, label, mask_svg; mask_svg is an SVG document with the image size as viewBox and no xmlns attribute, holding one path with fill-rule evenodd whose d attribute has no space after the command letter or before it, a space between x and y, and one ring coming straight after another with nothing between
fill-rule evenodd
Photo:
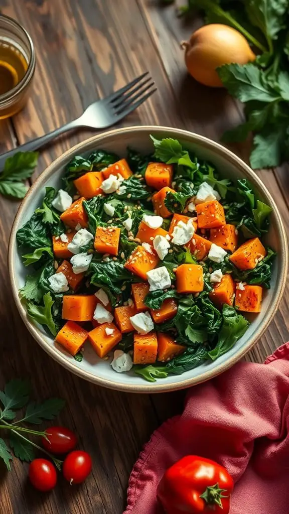
<instances>
[{"instance_id":1,"label":"bright green frilly leaf at the salad's top edge, nearest the onion","mask_svg":"<svg viewBox=\"0 0 289 514\"><path fill-rule=\"evenodd\" d=\"M156 139L150 135L155 147L154 156L167 164L183 164L188 168L196 169L196 163L191 161L187 150L183 150L182 144L171 137Z\"/></svg>"}]
</instances>

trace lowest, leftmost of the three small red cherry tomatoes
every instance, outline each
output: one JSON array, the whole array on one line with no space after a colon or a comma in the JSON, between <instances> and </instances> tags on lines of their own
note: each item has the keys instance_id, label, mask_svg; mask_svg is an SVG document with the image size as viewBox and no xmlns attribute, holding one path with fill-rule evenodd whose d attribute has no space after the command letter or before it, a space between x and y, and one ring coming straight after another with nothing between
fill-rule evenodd
<instances>
[{"instance_id":1,"label":"lowest, leftmost of the three small red cherry tomatoes","mask_svg":"<svg viewBox=\"0 0 289 514\"><path fill-rule=\"evenodd\" d=\"M39 491L50 491L56 486L56 469L45 458L34 458L29 466L28 476L33 487Z\"/></svg>"}]
</instances>

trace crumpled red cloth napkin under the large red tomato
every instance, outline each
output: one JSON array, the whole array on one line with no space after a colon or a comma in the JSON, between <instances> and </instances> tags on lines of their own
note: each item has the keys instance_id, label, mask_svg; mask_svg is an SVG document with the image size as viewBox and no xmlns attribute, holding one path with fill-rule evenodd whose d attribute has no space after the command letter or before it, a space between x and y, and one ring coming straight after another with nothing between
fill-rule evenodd
<instances>
[{"instance_id":1,"label":"crumpled red cloth napkin under the large red tomato","mask_svg":"<svg viewBox=\"0 0 289 514\"><path fill-rule=\"evenodd\" d=\"M163 514L157 485L188 454L232 475L230 514L288 514L289 342L265 364L239 362L189 390L183 414L156 430L139 455L124 514Z\"/></svg>"}]
</instances>

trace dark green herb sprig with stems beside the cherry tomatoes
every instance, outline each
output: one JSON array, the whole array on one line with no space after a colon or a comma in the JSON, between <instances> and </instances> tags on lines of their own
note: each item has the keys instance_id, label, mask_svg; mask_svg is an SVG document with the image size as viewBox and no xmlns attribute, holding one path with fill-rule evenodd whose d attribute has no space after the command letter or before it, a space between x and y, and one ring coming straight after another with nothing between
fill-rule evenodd
<instances>
[{"instance_id":1,"label":"dark green herb sprig with stems beside the cherry tomatoes","mask_svg":"<svg viewBox=\"0 0 289 514\"><path fill-rule=\"evenodd\" d=\"M47 438L46 431L34 430L29 426L23 426L23 423L40 425L44 419L55 418L64 406L64 400L49 398L42 403L37 403L29 401L29 395L30 384L27 380L21 379L11 380L6 384L4 391L0 391L0 403L2 404L0 408L0 430L4 430L6 435L6 440L0 437L0 458L6 464L7 469L10 470L13 460L11 450L13 450L14 456L21 461L31 462L34 458L34 448L36 448L46 453L60 469L62 461L53 457L27 437L27 435L35 435ZM17 416L15 410L23 409L25 406L23 416L15 420Z\"/></svg>"}]
</instances>

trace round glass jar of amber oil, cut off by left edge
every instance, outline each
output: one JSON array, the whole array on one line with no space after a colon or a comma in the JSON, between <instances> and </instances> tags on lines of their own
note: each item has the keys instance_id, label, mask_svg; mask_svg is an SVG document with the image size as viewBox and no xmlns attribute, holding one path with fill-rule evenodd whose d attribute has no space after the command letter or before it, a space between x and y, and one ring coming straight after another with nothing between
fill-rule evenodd
<instances>
[{"instance_id":1,"label":"round glass jar of amber oil, cut off by left edge","mask_svg":"<svg viewBox=\"0 0 289 514\"><path fill-rule=\"evenodd\" d=\"M35 70L35 51L26 30L12 18L2 15L0 66L0 119L4 119L24 107Z\"/></svg>"}]
</instances>

